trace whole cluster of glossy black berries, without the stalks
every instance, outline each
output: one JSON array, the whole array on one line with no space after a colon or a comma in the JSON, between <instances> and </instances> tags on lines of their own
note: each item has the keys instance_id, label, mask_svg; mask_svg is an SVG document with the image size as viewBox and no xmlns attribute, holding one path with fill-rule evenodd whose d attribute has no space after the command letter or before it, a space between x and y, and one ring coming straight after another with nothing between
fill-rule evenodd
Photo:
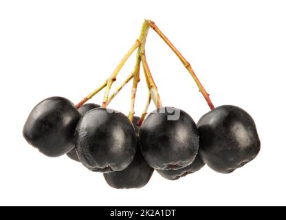
<instances>
[{"instance_id":1,"label":"whole cluster of glossy black berries, without the stalks","mask_svg":"<svg viewBox=\"0 0 286 220\"><path fill-rule=\"evenodd\" d=\"M174 117L177 115L177 117ZM104 173L113 188L145 186L153 170L166 179L194 173L206 163L232 173L260 151L254 120L239 107L225 105L197 124L171 107L148 114L142 126L98 104L47 98L34 107L23 128L25 140L50 157L67 155L89 170Z\"/></svg>"}]
</instances>

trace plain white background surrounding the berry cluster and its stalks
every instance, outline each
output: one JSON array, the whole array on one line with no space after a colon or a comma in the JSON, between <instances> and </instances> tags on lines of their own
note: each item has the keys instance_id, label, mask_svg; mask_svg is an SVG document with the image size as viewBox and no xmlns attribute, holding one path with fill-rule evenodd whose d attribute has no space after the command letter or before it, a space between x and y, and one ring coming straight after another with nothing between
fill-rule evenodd
<instances>
[{"instance_id":1,"label":"plain white background surrounding the berry cluster and its stalks","mask_svg":"<svg viewBox=\"0 0 286 220\"><path fill-rule=\"evenodd\" d=\"M285 1L1 1L0 205L286 205ZM139 190L110 188L66 156L48 158L22 137L35 104L78 102L111 74L153 19L190 61L216 106L252 115L261 153L230 175L207 166L168 181L154 173ZM162 102L197 122L209 111L170 49L150 31L146 56ZM126 63L118 85L133 68ZM146 102L142 76L136 113ZM129 111L131 85L111 106ZM102 93L94 98L102 102ZM153 110L153 105L151 110Z\"/></svg>"}]
</instances>

